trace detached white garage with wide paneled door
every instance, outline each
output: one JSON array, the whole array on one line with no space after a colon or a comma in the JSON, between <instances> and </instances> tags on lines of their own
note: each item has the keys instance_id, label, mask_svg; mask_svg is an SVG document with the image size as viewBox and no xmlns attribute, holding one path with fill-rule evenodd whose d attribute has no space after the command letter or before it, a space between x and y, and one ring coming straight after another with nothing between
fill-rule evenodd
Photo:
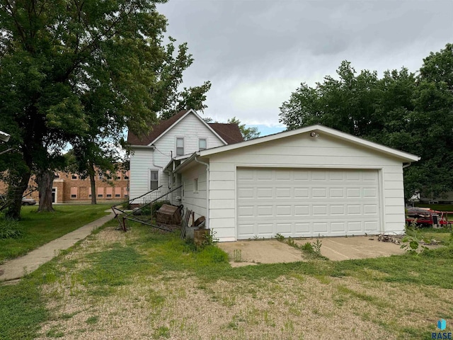
<instances>
[{"instance_id":1,"label":"detached white garage with wide paneled door","mask_svg":"<svg viewBox=\"0 0 453 340\"><path fill-rule=\"evenodd\" d=\"M173 172L221 242L401 234L403 167L418 159L314 125L195 152Z\"/></svg>"}]
</instances>

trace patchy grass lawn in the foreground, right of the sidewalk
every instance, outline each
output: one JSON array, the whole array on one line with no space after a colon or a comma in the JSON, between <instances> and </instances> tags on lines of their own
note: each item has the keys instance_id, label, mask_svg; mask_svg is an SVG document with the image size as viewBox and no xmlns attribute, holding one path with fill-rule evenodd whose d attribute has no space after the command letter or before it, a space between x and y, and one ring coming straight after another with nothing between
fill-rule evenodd
<instances>
[{"instance_id":1,"label":"patchy grass lawn in the foreground, right of the sidewalk","mask_svg":"<svg viewBox=\"0 0 453 340\"><path fill-rule=\"evenodd\" d=\"M343 325L338 339L430 339L437 318L453 318L445 300L453 292L447 230L422 230L446 246L418 255L231 268L217 246L197 249L178 233L115 226L108 222L18 285L0 286L0 319L8 320L0 323L0 339L127 339L127 327L121 336L106 332L122 329L129 308L138 313L137 327L149 325L143 339L304 339L307 329L328 339L316 319L355 320L355 330ZM202 321L210 336L193 321L205 313L212 315Z\"/></svg>"}]
</instances>

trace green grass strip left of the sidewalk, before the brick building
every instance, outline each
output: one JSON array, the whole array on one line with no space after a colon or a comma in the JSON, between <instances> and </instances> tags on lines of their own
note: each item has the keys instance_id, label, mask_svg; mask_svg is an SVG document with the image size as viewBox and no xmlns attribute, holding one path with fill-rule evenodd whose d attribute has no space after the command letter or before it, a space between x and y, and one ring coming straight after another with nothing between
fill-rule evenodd
<instances>
[{"instance_id":1,"label":"green grass strip left of the sidewalk, before the brick building","mask_svg":"<svg viewBox=\"0 0 453 340\"><path fill-rule=\"evenodd\" d=\"M105 210L110 205L54 205L54 208L55 212L37 212L36 205L22 208L22 219L18 225L23 234L14 239L0 239L0 263L24 255L107 215ZM0 218L3 219L3 215Z\"/></svg>"}]
</instances>

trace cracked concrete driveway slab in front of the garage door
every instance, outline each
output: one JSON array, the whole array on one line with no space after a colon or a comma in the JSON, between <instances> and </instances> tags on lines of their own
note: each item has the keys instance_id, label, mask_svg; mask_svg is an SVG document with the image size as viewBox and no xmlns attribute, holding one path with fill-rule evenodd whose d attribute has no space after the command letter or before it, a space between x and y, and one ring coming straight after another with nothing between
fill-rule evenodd
<instances>
[{"instance_id":1,"label":"cracked concrete driveway slab in front of the garage door","mask_svg":"<svg viewBox=\"0 0 453 340\"><path fill-rule=\"evenodd\" d=\"M294 242L302 245L314 243L316 239L322 243L321 255L332 261L404 254L398 244L379 242L377 237L369 236L295 239ZM276 239L224 242L218 246L229 254L231 266L304 261L303 251Z\"/></svg>"}]
</instances>

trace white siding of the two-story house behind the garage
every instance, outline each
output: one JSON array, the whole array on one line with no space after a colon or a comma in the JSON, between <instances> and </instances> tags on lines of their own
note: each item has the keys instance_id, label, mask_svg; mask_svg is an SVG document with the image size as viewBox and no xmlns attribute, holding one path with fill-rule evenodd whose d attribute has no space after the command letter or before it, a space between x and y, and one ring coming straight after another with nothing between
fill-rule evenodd
<instances>
[{"instance_id":1,"label":"white siding of the two-story house behind the garage","mask_svg":"<svg viewBox=\"0 0 453 340\"><path fill-rule=\"evenodd\" d=\"M130 198L135 198L149 191L149 171L159 170L159 186L163 192L168 191L171 186L168 183L168 175L164 174L164 167L171 161L171 157L176 156L176 137L184 137L185 154L193 154L198 151L198 139L205 138L207 147L219 147L224 145L219 137L207 128L193 113L180 120L178 124L168 130L156 141L156 149L134 149L134 154L130 157ZM154 157L154 159L153 159ZM173 204L178 202L176 196L180 196L177 191L171 196Z\"/></svg>"}]
</instances>

